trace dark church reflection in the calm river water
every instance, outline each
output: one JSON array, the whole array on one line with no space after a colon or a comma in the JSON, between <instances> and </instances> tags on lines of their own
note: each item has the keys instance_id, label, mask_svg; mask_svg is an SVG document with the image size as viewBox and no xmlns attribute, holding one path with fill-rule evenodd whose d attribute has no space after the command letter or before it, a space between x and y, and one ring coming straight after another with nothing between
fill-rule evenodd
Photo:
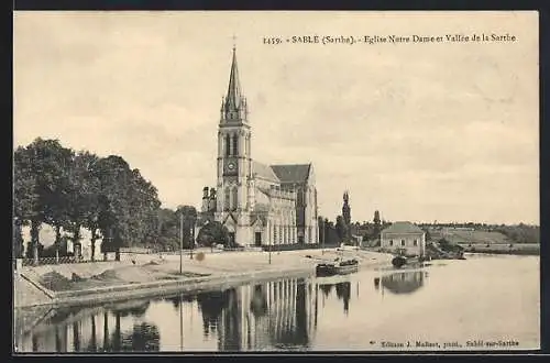
<instances>
[{"instance_id":1,"label":"dark church reflection in the calm river water","mask_svg":"<svg viewBox=\"0 0 550 363\"><path fill-rule=\"evenodd\" d=\"M286 279L197 296L219 351L307 349L317 324L316 285ZM216 327L216 328L215 328Z\"/></svg>"}]
</instances>

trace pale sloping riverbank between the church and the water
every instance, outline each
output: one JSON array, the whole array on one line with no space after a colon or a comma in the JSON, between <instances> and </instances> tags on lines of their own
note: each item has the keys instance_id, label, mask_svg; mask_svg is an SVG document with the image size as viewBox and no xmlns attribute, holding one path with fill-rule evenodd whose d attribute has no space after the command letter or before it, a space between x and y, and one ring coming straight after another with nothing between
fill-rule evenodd
<instances>
[{"instance_id":1,"label":"pale sloping riverbank between the church and the water","mask_svg":"<svg viewBox=\"0 0 550 363\"><path fill-rule=\"evenodd\" d=\"M15 276L15 308L92 305L174 292L226 288L251 280L309 276L321 260L341 255L336 250L286 252L204 252L199 261L187 256L179 274L177 255L135 256L134 263L88 263L26 266ZM388 264L391 255L344 251L362 268Z\"/></svg>"}]
</instances>

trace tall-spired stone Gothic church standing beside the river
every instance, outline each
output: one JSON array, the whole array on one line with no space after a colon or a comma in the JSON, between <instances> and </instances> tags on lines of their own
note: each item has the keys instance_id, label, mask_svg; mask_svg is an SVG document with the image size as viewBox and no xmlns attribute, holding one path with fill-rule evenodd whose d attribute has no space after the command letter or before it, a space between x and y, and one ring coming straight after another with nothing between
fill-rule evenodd
<instances>
[{"instance_id":1,"label":"tall-spired stone Gothic church standing beside the river","mask_svg":"<svg viewBox=\"0 0 550 363\"><path fill-rule=\"evenodd\" d=\"M241 246L317 244L312 163L267 165L252 157L252 127L242 94L237 51L218 125L217 185L202 189L200 224L218 221ZM197 234L196 234L197 235Z\"/></svg>"}]
</instances>

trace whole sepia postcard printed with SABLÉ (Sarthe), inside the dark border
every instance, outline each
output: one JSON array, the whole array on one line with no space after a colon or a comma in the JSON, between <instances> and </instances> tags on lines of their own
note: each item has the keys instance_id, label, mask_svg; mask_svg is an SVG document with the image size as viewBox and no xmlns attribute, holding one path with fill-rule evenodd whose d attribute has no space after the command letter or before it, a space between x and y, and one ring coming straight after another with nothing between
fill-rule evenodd
<instances>
[{"instance_id":1,"label":"whole sepia postcard printed with SABL\u00c9 (Sarthe), inside the dark border","mask_svg":"<svg viewBox=\"0 0 550 363\"><path fill-rule=\"evenodd\" d=\"M540 349L535 11L15 11L13 352Z\"/></svg>"}]
</instances>

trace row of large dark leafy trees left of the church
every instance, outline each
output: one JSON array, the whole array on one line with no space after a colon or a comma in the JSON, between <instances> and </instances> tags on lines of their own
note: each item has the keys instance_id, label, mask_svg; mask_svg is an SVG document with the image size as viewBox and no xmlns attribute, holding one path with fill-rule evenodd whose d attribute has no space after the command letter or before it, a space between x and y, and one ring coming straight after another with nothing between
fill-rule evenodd
<instances>
[{"instance_id":1,"label":"row of large dark leafy trees left of the church","mask_svg":"<svg viewBox=\"0 0 550 363\"><path fill-rule=\"evenodd\" d=\"M23 254L22 227L29 226L29 254L37 258L43 223L55 230L54 250L59 253L62 230L75 250L81 231L91 233L91 258L102 239L101 251L114 252L134 245L179 244L178 219L183 216L186 246L193 243L195 207L161 208L157 189L138 168L118 155L99 157L89 151L64 147L58 140L36 139L19 146L13 155L13 252Z\"/></svg>"}]
</instances>

